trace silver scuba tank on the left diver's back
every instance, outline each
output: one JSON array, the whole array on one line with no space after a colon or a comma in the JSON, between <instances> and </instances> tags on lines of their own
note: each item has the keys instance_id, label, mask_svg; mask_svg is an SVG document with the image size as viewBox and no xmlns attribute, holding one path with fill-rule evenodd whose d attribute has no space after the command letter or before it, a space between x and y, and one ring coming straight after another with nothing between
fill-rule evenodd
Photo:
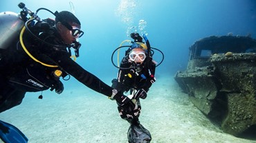
<instances>
[{"instance_id":1,"label":"silver scuba tank on the left diver's back","mask_svg":"<svg viewBox=\"0 0 256 143\"><path fill-rule=\"evenodd\" d=\"M13 41L19 41L25 22L15 12L0 13L0 49L6 50Z\"/></svg>"}]
</instances>

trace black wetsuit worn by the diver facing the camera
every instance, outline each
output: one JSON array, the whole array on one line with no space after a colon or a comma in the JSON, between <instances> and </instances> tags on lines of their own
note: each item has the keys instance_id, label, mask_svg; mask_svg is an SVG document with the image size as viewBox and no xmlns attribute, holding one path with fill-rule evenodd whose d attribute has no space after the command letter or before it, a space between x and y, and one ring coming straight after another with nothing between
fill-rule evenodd
<instances>
[{"instance_id":1,"label":"black wetsuit worn by the diver facing the camera","mask_svg":"<svg viewBox=\"0 0 256 143\"><path fill-rule=\"evenodd\" d=\"M119 69L118 71L118 78L112 80L112 87L117 89L118 91L121 91L122 93L127 91L133 91L134 89L136 89L136 91L140 89L144 89L146 92L149 91L149 88L152 86L152 83L156 81L156 79L154 78L156 64L153 63L152 60L146 63L146 60L145 60L143 65L136 65L134 62L133 63L129 62L128 59L129 59L128 56L125 56L124 58L122 58L122 61L120 63L121 69ZM129 67L135 67L135 68L129 69ZM137 103L138 103L137 109L124 110L118 107L118 111L122 112L120 113L121 118L124 118L130 124L135 124L135 125L140 124L140 122L138 121L138 117L140 115L140 109L141 109L139 99L137 99ZM133 117L129 118L125 114L132 115Z\"/></svg>"}]
</instances>

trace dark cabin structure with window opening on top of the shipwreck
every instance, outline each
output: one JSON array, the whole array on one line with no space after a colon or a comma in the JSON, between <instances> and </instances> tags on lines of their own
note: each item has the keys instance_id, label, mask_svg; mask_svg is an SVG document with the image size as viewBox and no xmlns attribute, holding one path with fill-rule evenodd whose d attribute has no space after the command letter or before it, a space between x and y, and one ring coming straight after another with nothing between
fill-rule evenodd
<instances>
[{"instance_id":1,"label":"dark cabin structure with window opening on top of the shipwreck","mask_svg":"<svg viewBox=\"0 0 256 143\"><path fill-rule=\"evenodd\" d=\"M187 69L210 66L214 54L256 52L256 40L248 36L210 36L196 41L190 48Z\"/></svg>"}]
</instances>

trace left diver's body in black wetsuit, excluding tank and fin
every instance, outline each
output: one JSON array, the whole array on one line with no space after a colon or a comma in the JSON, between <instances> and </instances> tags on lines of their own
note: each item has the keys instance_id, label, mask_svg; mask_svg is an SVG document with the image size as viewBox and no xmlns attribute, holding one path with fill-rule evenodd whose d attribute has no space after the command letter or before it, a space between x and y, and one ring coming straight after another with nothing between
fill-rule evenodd
<instances>
[{"instance_id":1,"label":"left diver's body in black wetsuit, excluding tank and fin","mask_svg":"<svg viewBox=\"0 0 256 143\"><path fill-rule=\"evenodd\" d=\"M86 87L115 99L120 106L133 107L122 92L109 87L70 58L71 47L79 56L80 43L76 39L84 32L71 12L55 12L55 16L55 23L28 23L22 39L0 50L0 113L21 104L27 91L51 88L61 94L64 87L60 77L69 74Z\"/></svg>"}]
</instances>

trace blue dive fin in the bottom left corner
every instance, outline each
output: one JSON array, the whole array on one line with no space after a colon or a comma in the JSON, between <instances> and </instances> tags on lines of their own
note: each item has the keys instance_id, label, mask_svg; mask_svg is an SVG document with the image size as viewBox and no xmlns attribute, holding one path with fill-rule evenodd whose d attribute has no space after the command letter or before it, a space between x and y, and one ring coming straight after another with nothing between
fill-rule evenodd
<instances>
[{"instance_id":1,"label":"blue dive fin in the bottom left corner","mask_svg":"<svg viewBox=\"0 0 256 143\"><path fill-rule=\"evenodd\" d=\"M0 120L0 138L5 143L27 143L28 138L17 127Z\"/></svg>"}]
</instances>

